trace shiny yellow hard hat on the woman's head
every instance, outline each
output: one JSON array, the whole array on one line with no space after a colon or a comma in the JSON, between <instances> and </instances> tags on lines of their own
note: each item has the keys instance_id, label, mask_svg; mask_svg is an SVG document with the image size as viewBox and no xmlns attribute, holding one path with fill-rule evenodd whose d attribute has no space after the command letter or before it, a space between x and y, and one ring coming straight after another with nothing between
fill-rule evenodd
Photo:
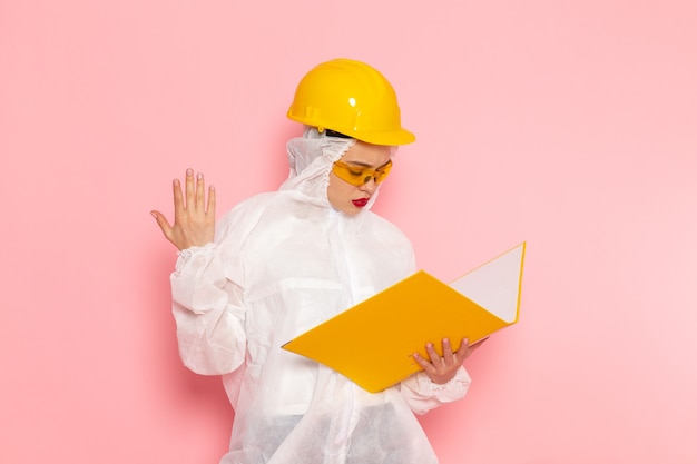
<instances>
[{"instance_id":1,"label":"shiny yellow hard hat on the woman's head","mask_svg":"<svg viewBox=\"0 0 697 464\"><path fill-rule=\"evenodd\" d=\"M288 118L375 145L405 145L416 137L402 128L396 93L376 69L355 60L323 62L303 77Z\"/></svg>"}]
</instances>

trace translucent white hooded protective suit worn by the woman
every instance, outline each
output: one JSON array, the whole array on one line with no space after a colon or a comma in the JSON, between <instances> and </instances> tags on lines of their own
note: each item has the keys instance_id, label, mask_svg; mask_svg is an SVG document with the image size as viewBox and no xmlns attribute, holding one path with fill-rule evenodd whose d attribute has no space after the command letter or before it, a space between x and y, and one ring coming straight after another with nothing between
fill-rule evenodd
<instances>
[{"instance_id":1,"label":"translucent white hooded protective suit worn by the woman","mask_svg":"<svg viewBox=\"0 0 697 464\"><path fill-rule=\"evenodd\" d=\"M376 195L355 216L327 200L332 164L354 142L307 128L288 142L291 176L278 191L240 203L213 244L179 253L171 286L181 359L223 375L235 408L223 464L436 463L412 412L467 392L460 368L445 385L419 373L370 394L281 349L415 270L410 241L369 210Z\"/></svg>"}]
</instances>

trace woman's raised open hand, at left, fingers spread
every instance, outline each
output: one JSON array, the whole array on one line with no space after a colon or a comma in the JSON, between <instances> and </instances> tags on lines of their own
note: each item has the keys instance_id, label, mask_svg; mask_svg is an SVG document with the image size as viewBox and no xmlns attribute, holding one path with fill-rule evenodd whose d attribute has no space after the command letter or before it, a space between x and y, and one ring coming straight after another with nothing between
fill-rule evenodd
<instances>
[{"instance_id":1,"label":"woman's raised open hand, at left, fingers spread","mask_svg":"<svg viewBox=\"0 0 697 464\"><path fill-rule=\"evenodd\" d=\"M173 181L174 225L170 225L160 211L150 211L165 237L180 250L194 246L202 247L213 241L215 236L215 188L208 187L206 201L204 175L198 174L194 179L192 169L186 170L185 184L186 196L181 194L179 179Z\"/></svg>"}]
</instances>

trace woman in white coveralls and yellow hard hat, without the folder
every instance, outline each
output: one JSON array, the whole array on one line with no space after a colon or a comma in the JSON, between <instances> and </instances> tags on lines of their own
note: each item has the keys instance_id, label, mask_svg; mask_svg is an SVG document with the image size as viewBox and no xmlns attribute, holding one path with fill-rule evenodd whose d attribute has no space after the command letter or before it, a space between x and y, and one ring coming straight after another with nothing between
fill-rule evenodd
<instances>
[{"instance_id":1,"label":"woman in white coveralls and yellow hard hat, without the folder","mask_svg":"<svg viewBox=\"0 0 697 464\"><path fill-rule=\"evenodd\" d=\"M224 464L429 464L413 413L464 396L473 347L430 358L377 394L281 346L415 270L410 241L371 211L401 127L396 96L374 68L338 59L301 81L288 117L291 172L215 226L215 190L189 169L174 181L175 220L153 211L179 249L171 275L179 352L192 371L223 375L235 408ZM424 340L426 343L428 340Z\"/></svg>"}]
</instances>

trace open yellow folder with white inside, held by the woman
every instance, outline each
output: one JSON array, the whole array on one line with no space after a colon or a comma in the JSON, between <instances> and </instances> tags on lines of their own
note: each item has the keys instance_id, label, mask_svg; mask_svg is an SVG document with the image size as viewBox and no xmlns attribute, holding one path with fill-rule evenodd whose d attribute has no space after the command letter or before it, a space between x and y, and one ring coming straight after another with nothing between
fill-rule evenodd
<instances>
[{"instance_id":1,"label":"open yellow folder with white inside, held by the woman","mask_svg":"<svg viewBox=\"0 0 697 464\"><path fill-rule=\"evenodd\" d=\"M470 344L518 322L526 244L445 284L424 270L320 324L283 345L322 363L367 392L387 388L421 371L433 343Z\"/></svg>"}]
</instances>

